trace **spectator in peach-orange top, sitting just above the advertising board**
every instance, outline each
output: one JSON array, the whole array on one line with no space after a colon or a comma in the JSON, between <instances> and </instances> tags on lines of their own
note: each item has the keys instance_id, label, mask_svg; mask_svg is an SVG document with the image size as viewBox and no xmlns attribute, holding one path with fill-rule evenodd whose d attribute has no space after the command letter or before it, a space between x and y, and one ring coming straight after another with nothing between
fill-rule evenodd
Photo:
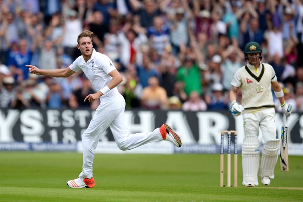
<instances>
[{"instance_id":1,"label":"spectator in peach-orange top, sitting just above the advertising board","mask_svg":"<svg viewBox=\"0 0 303 202\"><path fill-rule=\"evenodd\" d=\"M148 86L142 91L142 107L145 109L164 109L167 107L167 95L165 89L159 86L156 76L148 79Z\"/></svg>"}]
</instances>

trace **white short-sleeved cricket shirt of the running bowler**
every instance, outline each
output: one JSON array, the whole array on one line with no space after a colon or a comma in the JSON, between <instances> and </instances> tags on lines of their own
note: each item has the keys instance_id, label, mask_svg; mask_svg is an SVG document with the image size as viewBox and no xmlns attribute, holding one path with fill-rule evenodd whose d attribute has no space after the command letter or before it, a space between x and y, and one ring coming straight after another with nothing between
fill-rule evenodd
<instances>
[{"instance_id":1,"label":"white short-sleeved cricket shirt of the running bowler","mask_svg":"<svg viewBox=\"0 0 303 202\"><path fill-rule=\"evenodd\" d=\"M112 77L108 74L116 69L108 56L95 51L95 49L93 49L91 58L87 62L85 62L83 56L79 56L69 68L75 72L82 70L96 91L109 84ZM113 97L117 95L119 95L119 92L117 87L115 87L101 97Z\"/></svg>"}]
</instances>

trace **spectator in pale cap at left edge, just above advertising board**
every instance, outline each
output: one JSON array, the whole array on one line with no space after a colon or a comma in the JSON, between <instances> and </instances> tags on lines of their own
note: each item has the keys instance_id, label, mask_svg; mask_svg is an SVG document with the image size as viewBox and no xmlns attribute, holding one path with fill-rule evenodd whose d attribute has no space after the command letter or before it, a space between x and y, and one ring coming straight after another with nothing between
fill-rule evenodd
<instances>
[{"instance_id":1,"label":"spectator in pale cap at left edge, just above advertising board","mask_svg":"<svg viewBox=\"0 0 303 202\"><path fill-rule=\"evenodd\" d=\"M0 88L0 107L10 107L16 97L15 80L11 76L3 79L3 86Z\"/></svg>"}]
</instances>

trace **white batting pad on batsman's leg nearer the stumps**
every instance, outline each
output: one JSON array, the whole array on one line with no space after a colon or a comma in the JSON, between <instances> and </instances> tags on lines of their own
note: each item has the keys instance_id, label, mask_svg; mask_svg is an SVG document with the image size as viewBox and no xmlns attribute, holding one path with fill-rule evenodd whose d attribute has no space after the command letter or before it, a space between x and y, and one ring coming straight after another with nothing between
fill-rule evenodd
<instances>
[{"instance_id":1,"label":"white batting pad on batsman's leg nearer the stumps","mask_svg":"<svg viewBox=\"0 0 303 202\"><path fill-rule=\"evenodd\" d=\"M245 136L242 145L243 185L254 183L258 185L259 140L256 135Z\"/></svg>"}]
</instances>

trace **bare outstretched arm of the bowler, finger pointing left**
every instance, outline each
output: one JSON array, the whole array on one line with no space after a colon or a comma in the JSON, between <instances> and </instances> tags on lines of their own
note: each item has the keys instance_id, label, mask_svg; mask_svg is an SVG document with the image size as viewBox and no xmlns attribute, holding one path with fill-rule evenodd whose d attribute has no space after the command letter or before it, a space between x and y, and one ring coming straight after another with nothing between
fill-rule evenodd
<instances>
[{"instance_id":1,"label":"bare outstretched arm of the bowler, finger pointing left","mask_svg":"<svg viewBox=\"0 0 303 202\"><path fill-rule=\"evenodd\" d=\"M37 75L43 75L43 76L69 77L70 75L75 73L69 67L67 67L65 69L55 69L55 70L39 69L34 65L26 65L26 67L29 67L28 70L31 74L37 74Z\"/></svg>"}]
</instances>

